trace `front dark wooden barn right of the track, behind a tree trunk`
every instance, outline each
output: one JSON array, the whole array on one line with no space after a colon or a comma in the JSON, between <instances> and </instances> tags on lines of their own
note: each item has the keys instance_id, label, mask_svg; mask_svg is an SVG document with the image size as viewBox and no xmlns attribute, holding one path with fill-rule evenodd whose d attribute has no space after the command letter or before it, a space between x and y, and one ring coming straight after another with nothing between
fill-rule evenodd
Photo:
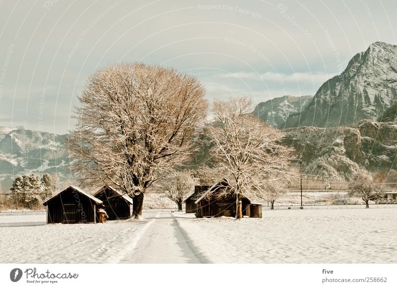
<instances>
[{"instance_id":1,"label":"front dark wooden barn right of the track, behind a tree trunk","mask_svg":"<svg viewBox=\"0 0 397 288\"><path fill-rule=\"evenodd\" d=\"M196 201L197 217L220 217L220 216L236 216L236 196L232 193L220 196L220 194L228 189L228 182L226 179L219 181L212 185L205 191ZM248 198L243 197L242 212L243 216L247 215L247 206L251 204Z\"/></svg>"}]
</instances>

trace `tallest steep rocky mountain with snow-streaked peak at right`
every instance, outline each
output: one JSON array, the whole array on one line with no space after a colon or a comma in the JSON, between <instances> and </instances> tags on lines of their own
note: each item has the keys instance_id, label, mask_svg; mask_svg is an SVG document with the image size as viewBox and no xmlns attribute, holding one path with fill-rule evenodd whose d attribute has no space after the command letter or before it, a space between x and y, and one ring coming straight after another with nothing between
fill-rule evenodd
<instances>
[{"instance_id":1,"label":"tallest steep rocky mountain with snow-streaked peak at right","mask_svg":"<svg viewBox=\"0 0 397 288\"><path fill-rule=\"evenodd\" d=\"M340 126L379 119L397 103L397 46L371 44L340 74L326 81L306 108L290 115L285 127Z\"/></svg>"}]
</instances>

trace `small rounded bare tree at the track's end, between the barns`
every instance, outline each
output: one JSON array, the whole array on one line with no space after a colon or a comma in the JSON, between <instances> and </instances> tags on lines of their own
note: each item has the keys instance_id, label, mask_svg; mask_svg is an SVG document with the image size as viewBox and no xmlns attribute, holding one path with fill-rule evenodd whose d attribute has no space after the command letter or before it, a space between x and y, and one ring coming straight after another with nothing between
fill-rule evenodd
<instances>
[{"instance_id":1,"label":"small rounded bare tree at the track's end, between the barns","mask_svg":"<svg viewBox=\"0 0 397 288\"><path fill-rule=\"evenodd\" d=\"M164 181L166 197L178 205L178 211L182 211L182 202L188 194L195 190L197 180L190 171L175 171Z\"/></svg>"}]
</instances>

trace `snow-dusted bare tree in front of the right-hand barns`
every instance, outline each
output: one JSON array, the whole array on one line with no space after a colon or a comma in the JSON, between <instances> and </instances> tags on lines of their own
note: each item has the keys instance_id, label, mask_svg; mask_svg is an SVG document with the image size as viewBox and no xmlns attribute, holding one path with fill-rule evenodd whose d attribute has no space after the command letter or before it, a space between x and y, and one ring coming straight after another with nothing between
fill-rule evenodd
<instances>
[{"instance_id":1,"label":"snow-dusted bare tree in front of the right-hand barns","mask_svg":"<svg viewBox=\"0 0 397 288\"><path fill-rule=\"evenodd\" d=\"M215 166L228 179L224 191L236 195L236 218L242 217L242 196L258 193L264 175L285 174L292 158L291 148L279 144L282 132L248 113L251 104L244 97L214 101L216 123L208 129Z\"/></svg>"}]
</instances>

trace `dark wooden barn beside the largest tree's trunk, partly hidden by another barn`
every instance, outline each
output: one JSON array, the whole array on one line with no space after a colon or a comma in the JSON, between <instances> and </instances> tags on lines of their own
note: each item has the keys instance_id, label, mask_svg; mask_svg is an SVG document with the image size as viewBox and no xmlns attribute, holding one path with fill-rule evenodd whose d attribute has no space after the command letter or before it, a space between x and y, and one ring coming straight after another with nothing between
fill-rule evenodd
<instances>
[{"instance_id":1,"label":"dark wooden barn beside the largest tree's trunk, partly hidden by another barn","mask_svg":"<svg viewBox=\"0 0 397 288\"><path fill-rule=\"evenodd\" d=\"M130 218L132 215L132 198L111 186L104 186L94 197L103 202L108 220Z\"/></svg>"}]
</instances>

